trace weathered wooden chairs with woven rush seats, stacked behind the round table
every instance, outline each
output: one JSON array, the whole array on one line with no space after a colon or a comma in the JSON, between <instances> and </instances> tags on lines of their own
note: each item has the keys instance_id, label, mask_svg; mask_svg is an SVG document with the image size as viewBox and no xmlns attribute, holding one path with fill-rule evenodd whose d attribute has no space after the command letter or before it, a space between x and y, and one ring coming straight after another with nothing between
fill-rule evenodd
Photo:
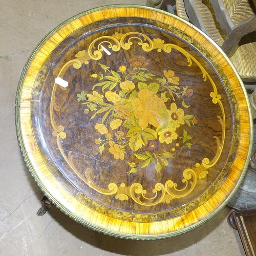
<instances>
[{"instance_id":1,"label":"weathered wooden chairs with woven rush seats, stacked behind the round table","mask_svg":"<svg viewBox=\"0 0 256 256\"><path fill-rule=\"evenodd\" d=\"M253 0L255 2L255 0ZM256 16L249 0L176 0L177 15L208 34L245 83L256 81ZM248 84L247 88L254 88Z\"/></svg>"}]
</instances>

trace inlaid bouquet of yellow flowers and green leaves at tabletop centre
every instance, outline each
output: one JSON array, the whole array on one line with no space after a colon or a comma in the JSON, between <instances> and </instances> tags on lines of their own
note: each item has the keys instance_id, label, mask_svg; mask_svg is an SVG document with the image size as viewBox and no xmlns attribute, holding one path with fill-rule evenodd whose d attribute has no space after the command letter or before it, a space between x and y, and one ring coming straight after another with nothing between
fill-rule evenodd
<instances>
[{"instance_id":1,"label":"inlaid bouquet of yellow flowers and green leaves at tabletop centre","mask_svg":"<svg viewBox=\"0 0 256 256\"><path fill-rule=\"evenodd\" d=\"M94 84L92 93L78 93L77 100L90 109L91 119L102 120L95 125L97 132L103 135L95 142L99 145L99 154L109 151L115 159L124 160L125 155L132 151L136 157L133 173L151 162L160 173L162 167L168 166L175 157L172 148L176 143L191 148L190 139L193 137L187 136L185 127L194 125L195 117L189 113L188 105L181 105L189 89L179 86L179 78L172 70L164 70L163 77L158 78L142 68L142 63L146 62L143 56L131 58L129 62L129 67L122 65L118 71L99 63L104 75L94 73L91 77L100 82ZM184 109L188 114L184 114ZM168 151L159 151L159 147L157 150L155 140L169 144ZM153 147L154 153L151 154Z\"/></svg>"}]
</instances>

